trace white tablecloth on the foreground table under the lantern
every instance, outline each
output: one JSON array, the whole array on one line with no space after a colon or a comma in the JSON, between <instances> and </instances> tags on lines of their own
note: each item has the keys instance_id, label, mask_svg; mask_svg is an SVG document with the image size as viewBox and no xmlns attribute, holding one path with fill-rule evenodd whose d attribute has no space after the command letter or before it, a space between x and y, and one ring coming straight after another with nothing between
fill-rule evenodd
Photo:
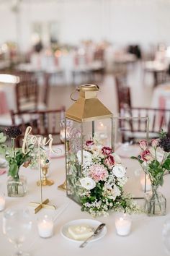
<instances>
[{"instance_id":1,"label":"white tablecloth on the foreground table under the lantern","mask_svg":"<svg viewBox=\"0 0 170 256\"><path fill-rule=\"evenodd\" d=\"M134 176L134 171L139 168L138 163L128 158L122 158L125 166L128 166L129 180L128 190L136 189L138 182ZM129 236L117 236L115 231L115 213L109 217L97 218L107 224L107 234L98 242L89 243L84 249L79 248L79 244L69 242L61 236L61 227L68 221L78 218L91 218L89 213L81 212L81 208L75 202L66 197L66 192L58 189L65 178L65 159L53 159L50 166L49 178L55 181L51 187L43 188L44 199L49 198L50 203L57 205L57 210L42 209L34 214L33 208L28 207L34 221L32 236L23 244L23 249L32 253L32 256L166 256L164 246L161 241L161 232L166 218L170 216L170 195L169 182L170 176L166 176L162 192L167 199L167 215L161 217L148 217L146 215L133 216L133 229ZM38 171L30 168L22 168L22 174L27 176L28 192L20 198L6 197L6 208L17 206L27 207L30 201L40 201L40 190L36 186ZM6 189L6 174L0 176L0 189ZM140 187L139 187L140 191ZM140 191L141 195L142 192ZM141 202L141 200L139 200ZM37 233L37 218L44 214L53 216L55 219L55 234L49 239L42 239ZM0 223L2 224L3 212L0 213ZM14 252L14 246L10 244L2 233L0 224L1 256L9 256Z\"/></svg>"}]
</instances>

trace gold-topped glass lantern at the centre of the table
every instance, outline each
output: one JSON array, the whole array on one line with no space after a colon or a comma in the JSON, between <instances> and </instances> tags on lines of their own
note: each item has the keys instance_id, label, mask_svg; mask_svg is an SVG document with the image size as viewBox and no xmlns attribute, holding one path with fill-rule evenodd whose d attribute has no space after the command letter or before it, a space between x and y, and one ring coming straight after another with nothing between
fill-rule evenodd
<instances>
[{"instance_id":1,"label":"gold-topped glass lantern at the centre of the table","mask_svg":"<svg viewBox=\"0 0 170 256\"><path fill-rule=\"evenodd\" d=\"M86 142L99 140L101 145L113 148L112 113L97 98L98 85L81 85L76 89L79 98L68 108L65 115L65 145L66 145L66 183L67 195L81 204L77 193L78 179L82 176L84 147ZM66 124L72 121L72 127L67 132Z\"/></svg>"}]
</instances>

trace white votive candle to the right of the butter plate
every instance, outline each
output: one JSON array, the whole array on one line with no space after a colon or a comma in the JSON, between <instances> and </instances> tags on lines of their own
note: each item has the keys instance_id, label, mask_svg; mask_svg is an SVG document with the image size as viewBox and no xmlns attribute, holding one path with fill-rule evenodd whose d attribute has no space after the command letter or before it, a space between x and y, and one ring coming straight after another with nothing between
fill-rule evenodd
<instances>
[{"instance_id":1,"label":"white votive candle to the right of the butter plate","mask_svg":"<svg viewBox=\"0 0 170 256\"><path fill-rule=\"evenodd\" d=\"M119 236L127 236L132 226L131 218L127 214L119 215L115 219L115 226Z\"/></svg>"}]
</instances>

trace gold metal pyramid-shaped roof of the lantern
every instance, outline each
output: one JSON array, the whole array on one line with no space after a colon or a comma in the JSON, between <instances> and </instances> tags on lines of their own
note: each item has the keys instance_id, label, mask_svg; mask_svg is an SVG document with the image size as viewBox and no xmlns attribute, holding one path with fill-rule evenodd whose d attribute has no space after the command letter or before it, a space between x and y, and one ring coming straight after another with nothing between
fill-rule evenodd
<instances>
[{"instance_id":1,"label":"gold metal pyramid-shaped roof of the lantern","mask_svg":"<svg viewBox=\"0 0 170 256\"><path fill-rule=\"evenodd\" d=\"M98 85L80 85L76 90L79 98L66 111L66 118L83 122L112 117L112 112L97 98Z\"/></svg>"}]
</instances>

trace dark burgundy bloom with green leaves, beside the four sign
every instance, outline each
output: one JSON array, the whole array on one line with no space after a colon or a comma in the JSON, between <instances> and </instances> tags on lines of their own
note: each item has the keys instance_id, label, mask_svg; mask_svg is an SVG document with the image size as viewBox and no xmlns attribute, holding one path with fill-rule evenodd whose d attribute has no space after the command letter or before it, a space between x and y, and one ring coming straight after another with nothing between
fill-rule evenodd
<instances>
[{"instance_id":1,"label":"dark burgundy bloom with green leaves, beside the four sign","mask_svg":"<svg viewBox=\"0 0 170 256\"><path fill-rule=\"evenodd\" d=\"M4 135L5 134L5 135ZM19 167L24 166L27 167L27 163L30 161L30 155L32 153L32 145L29 145L29 150L26 155L22 153L22 148L15 148L14 141L15 139L22 134L22 131L17 126L12 126L6 128L4 132L0 133L0 154L4 155L6 161L9 164L9 172L8 175L12 176L15 181L19 181ZM7 137L12 140L12 146L4 144L6 142Z\"/></svg>"}]
</instances>

